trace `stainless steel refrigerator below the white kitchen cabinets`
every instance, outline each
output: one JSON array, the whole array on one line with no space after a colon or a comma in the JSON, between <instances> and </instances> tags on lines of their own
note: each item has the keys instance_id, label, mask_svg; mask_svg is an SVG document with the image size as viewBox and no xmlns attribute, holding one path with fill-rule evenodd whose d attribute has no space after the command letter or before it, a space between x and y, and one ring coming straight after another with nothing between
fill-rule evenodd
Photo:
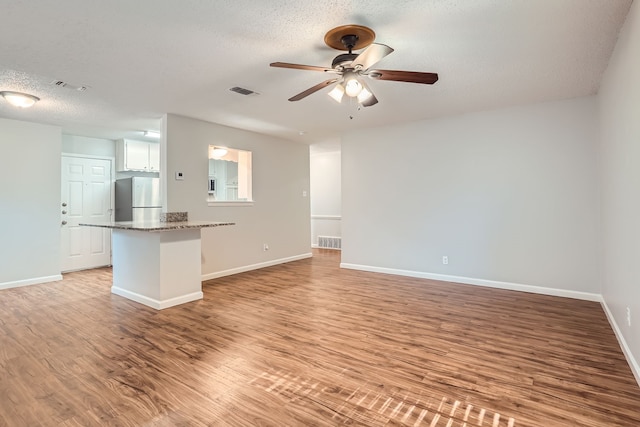
<instances>
[{"instance_id":1,"label":"stainless steel refrigerator below the white kitchen cabinets","mask_svg":"<svg viewBox=\"0 0 640 427\"><path fill-rule=\"evenodd\" d=\"M160 179L134 176L116 180L116 221L159 221Z\"/></svg>"}]
</instances>

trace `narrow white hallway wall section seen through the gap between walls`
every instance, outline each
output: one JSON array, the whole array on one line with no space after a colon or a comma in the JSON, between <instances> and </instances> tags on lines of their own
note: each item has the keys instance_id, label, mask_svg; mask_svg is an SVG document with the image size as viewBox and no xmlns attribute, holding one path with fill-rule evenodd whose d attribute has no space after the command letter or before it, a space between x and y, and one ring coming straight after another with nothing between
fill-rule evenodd
<instances>
[{"instance_id":1,"label":"narrow white hallway wall section seen through the gap between walls","mask_svg":"<svg viewBox=\"0 0 640 427\"><path fill-rule=\"evenodd\" d=\"M313 146L311 147L313 149ZM311 242L318 236L342 236L342 182L339 150L313 152L311 173Z\"/></svg>"}]
</instances>

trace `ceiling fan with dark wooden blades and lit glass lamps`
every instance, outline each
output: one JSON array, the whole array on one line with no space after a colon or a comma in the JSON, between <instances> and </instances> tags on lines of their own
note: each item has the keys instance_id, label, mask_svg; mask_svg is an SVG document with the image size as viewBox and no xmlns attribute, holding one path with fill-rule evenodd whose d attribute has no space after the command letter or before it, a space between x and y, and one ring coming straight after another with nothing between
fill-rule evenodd
<instances>
[{"instance_id":1,"label":"ceiling fan with dark wooden blades and lit glass lamps","mask_svg":"<svg viewBox=\"0 0 640 427\"><path fill-rule=\"evenodd\" d=\"M310 87L307 90L289 98L289 101L299 101L312 93L327 86L337 83L329 92L329 95L338 102L342 101L346 94L349 97L357 98L358 103L363 107L370 107L378 103L371 89L364 81L364 77L374 80L392 80L397 82L434 84L438 81L436 73L422 73L416 71L398 70L378 70L372 69L385 56L393 52L387 45L373 43L375 33L372 29L362 25L343 25L329 30L324 36L327 46L346 50L336 56L331 63L331 68L317 67L313 65L290 64L287 62L272 62L272 67L293 68L297 70L321 71L334 74L335 76ZM354 50L364 49L360 53L353 53Z\"/></svg>"}]
</instances>

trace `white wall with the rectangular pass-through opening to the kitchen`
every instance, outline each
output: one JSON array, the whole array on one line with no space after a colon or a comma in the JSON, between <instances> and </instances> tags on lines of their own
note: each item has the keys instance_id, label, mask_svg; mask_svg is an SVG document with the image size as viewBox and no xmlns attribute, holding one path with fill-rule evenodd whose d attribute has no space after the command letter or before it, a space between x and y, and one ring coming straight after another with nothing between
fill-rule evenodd
<instances>
[{"instance_id":1,"label":"white wall with the rectangular pass-through opening to the kitchen","mask_svg":"<svg viewBox=\"0 0 640 427\"><path fill-rule=\"evenodd\" d=\"M202 231L205 279L311 256L308 146L172 114L163 127L167 211L236 223ZM252 206L207 206L210 144L253 153ZM174 179L177 171L183 181Z\"/></svg>"}]
</instances>

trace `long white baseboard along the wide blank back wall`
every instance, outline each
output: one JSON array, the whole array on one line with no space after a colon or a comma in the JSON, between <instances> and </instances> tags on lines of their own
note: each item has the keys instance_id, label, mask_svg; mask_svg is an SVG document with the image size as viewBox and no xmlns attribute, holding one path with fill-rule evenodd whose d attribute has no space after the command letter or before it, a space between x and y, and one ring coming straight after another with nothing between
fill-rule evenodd
<instances>
[{"instance_id":1,"label":"long white baseboard along the wide blank back wall","mask_svg":"<svg viewBox=\"0 0 640 427\"><path fill-rule=\"evenodd\" d=\"M351 270L371 271L374 273L395 274L398 276L417 277L420 279L441 280L443 282L464 283L467 285L486 286L488 288L507 289L511 291L531 292L534 294L551 295L565 298L575 298L586 301L602 301L600 294L589 292L569 291L566 289L545 288L542 286L524 285L521 283L499 282L495 280L475 279L472 277L450 276L446 274L425 273L421 271L397 270L395 268L372 267L368 265L341 263L340 268Z\"/></svg>"}]
</instances>

